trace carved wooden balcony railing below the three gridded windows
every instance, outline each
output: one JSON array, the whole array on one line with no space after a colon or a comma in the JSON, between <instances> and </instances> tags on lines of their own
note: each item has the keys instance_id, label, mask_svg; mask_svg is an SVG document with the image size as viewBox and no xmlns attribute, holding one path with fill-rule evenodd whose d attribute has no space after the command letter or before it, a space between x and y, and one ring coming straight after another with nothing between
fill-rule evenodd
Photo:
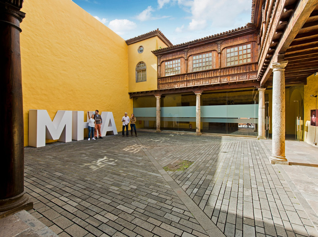
<instances>
[{"instance_id":1,"label":"carved wooden balcony railing below the three gridded windows","mask_svg":"<svg viewBox=\"0 0 318 237\"><path fill-rule=\"evenodd\" d=\"M158 78L158 89L212 85L257 79L257 62Z\"/></svg>"}]
</instances>

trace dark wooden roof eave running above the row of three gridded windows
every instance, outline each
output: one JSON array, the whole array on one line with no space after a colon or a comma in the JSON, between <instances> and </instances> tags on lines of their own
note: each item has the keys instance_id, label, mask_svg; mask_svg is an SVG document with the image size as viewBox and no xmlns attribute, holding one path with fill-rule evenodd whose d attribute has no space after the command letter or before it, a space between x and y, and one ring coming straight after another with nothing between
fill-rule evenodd
<instances>
[{"instance_id":1,"label":"dark wooden roof eave running above the row of three gridded windows","mask_svg":"<svg viewBox=\"0 0 318 237\"><path fill-rule=\"evenodd\" d=\"M256 32L256 31L257 30L255 29L255 27L248 27L245 29L235 30L235 31L232 31L232 32L229 32L226 34L220 34L220 35L216 35L213 37L206 37L206 38L202 38L199 40L183 43L181 45L175 45L175 46L171 46L168 48L157 49L157 50L154 50L151 52L153 54L155 54L156 56L161 55L161 54L169 54L169 53L181 51L181 50L186 49L186 48L197 47L197 46L200 46L200 45L203 45L206 43L216 42L219 40L225 40L225 39L233 38L235 36L246 35L249 33Z\"/></svg>"}]
</instances>

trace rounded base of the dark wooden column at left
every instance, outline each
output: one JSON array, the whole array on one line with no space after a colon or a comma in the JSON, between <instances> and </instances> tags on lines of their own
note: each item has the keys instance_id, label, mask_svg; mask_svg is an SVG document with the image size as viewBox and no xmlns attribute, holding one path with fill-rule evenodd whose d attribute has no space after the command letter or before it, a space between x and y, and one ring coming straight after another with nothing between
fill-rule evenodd
<instances>
[{"instance_id":1,"label":"rounded base of the dark wooden column at left","mask_svg":"<svg viewBox=\"0 0 318 237\"><path fill-rule=\"evenodd\" d=\"M33 202L29 196L23 192L21 195L0 200L0 219L16 213L21 210L30 210L33 208Z\"/></svg>"}]
</instances>

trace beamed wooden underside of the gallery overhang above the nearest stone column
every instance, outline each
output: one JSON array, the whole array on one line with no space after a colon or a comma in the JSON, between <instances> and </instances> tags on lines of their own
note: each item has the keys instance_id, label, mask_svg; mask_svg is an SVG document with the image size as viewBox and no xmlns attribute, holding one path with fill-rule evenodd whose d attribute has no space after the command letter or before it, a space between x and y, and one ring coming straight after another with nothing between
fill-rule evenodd
<instances>
[{"instance_id":1,"label":"beamed wooden underside of the gallery overhang above the nearest stone column","mask_svg":"<svg viewBox=\"0 0 318 237\"><path fill-rule=\"evenodd\" d=\"M297 4L297 5L296 5ZM293 10L290 10L294 6ZM287 15L286 15L287 13ZM288 16L289 13L289 16ZM317 0L285 1L271 43L260 55L258 78L261 85L272 84L270 65L288 61L285 67L286 83L302 82L318 72L318 5ZM275 15L277 16L277 15ZM275 37L276 36L276 37ZM269 41L269 40L268 40ZM279 54L281 56L279 56Z\"/></svg>"}]
</instances>

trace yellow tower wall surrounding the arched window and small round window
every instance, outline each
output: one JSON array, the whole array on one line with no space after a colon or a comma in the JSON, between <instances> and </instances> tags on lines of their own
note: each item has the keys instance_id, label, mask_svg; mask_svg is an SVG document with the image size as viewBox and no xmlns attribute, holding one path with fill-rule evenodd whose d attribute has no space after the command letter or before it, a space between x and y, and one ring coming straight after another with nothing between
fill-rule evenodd
<instances>
[{"instance_id":1,"label":"yellow tower wall surrounding the arched window and small round window","mask_svg":"<svg viewBox=\"0 0 318 237\"><path fill-rule=\"evenodd\" d=\"M138 48L144 51L139 54ZM157 89L157 57L151 51L167 45L157 36L128 45L129 92L150 91ZM147 67L147 81L136 82L136 66L143 61Z\"/></svg>"}]
</instances>

